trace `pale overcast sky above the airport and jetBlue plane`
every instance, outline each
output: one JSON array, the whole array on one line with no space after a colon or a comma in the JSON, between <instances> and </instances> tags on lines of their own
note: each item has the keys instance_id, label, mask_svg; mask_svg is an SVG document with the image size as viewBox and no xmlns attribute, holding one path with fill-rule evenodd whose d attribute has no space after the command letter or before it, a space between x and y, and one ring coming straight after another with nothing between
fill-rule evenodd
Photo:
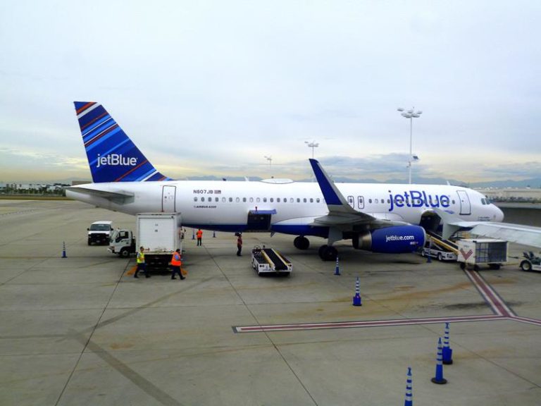
<instances>
[{"instance_id":1,"label":"pale overcast sky above the airport and jetBlue plane","mask_svg":"<svg viewBox=\"0 0 541 406\"><path fill-rule=\"evenodd\" d=\"M90 179L73 101L171 178L541 175L541 2L0 2L0 182ZM315 142L313 150L307 142ZM271 157L271 161L266 159Z\"/></svg>"}]
</instances>

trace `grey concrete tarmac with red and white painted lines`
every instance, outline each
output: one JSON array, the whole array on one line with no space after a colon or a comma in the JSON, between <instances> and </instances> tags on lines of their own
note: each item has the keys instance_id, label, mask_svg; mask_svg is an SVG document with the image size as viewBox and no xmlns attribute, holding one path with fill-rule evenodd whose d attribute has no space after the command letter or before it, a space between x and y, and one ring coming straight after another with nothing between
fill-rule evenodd
<instances>
[{"instance_id":1,"label":"grey concrete tarmac with red and white painted lines","mask_svg":"<svg viewBox=\"0 0 541 406\"><path fill-rule=\"evenodd\" d=\"M97 220L135 227L80 202L0 201L0 405L400 405L408 367L416 406L541 404L541 273L518 269L525 247L468 275L344 243L336 276L318 238L299 251L245 233L237 257L232 233L197 247L187 228L185 281L135 279L134 258L87 245ZM254 245L292 274L257 276ZM436 385L447 319L454 362Z\"/></svg>"}]
</instances>

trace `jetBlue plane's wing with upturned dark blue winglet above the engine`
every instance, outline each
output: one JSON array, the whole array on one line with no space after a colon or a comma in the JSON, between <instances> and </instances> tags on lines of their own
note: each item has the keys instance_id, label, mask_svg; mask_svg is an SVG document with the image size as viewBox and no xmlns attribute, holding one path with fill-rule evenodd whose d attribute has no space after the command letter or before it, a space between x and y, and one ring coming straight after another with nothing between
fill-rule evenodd
<instances>
[{"instance_id":1,"label":"jetBlue plane's wing with upturned dark blue winglet above the engine","mask_svg":"<svg viewBox=\"0 0 541 406\"><path fill-rule=\"evenodd\" d=\"M335 183L330 180L328 174L321 167L316 159L310 159L314 175L327 203L329 213L313 220L314 226L336 227L340 230L352 230L359 226L370 226L370 228L383 228L408 224L397 219L388 219L385 214L366 214L356 211L349 206L344 195L338 190Z\"/></svg>"}]
</instances>

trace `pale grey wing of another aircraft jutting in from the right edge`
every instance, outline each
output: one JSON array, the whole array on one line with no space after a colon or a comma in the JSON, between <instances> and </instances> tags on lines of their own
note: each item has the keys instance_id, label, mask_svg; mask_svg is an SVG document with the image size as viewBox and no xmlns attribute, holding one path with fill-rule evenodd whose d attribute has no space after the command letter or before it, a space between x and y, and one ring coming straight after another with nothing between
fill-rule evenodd
<instances>
[{"instance_id":1,"label":"pale grey wing of another aircraft jutting in from the right edge","mask_svg":"<svg viewBox=\"0 0 541 406\"><path fill-rule=\"evenodd\" d=\"M464 221L458 219L447 211L435 209L444 222L443 238L449 236L458 228L471 228L471 233L483 237L497 238L541 248L541 228L523 226L513 223L493 223L492 221Z\"/></svg>"}]
</instances>

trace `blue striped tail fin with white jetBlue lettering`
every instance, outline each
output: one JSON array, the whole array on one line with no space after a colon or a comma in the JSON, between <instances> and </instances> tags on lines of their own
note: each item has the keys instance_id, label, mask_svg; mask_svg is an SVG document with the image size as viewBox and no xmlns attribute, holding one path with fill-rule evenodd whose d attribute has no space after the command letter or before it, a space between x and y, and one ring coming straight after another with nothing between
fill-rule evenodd
<instances>
[{"instance_id":1,"label":"blue striped tail fin with white jetBlue lettering","mask_svg":"<svg viewBox=\"0 0 541 406\"><path fill-rule=\"evenodd\" d=\"M156 171L101 104L74 104L94 183L170 180Z\"/></svg>"}]
</instances>

